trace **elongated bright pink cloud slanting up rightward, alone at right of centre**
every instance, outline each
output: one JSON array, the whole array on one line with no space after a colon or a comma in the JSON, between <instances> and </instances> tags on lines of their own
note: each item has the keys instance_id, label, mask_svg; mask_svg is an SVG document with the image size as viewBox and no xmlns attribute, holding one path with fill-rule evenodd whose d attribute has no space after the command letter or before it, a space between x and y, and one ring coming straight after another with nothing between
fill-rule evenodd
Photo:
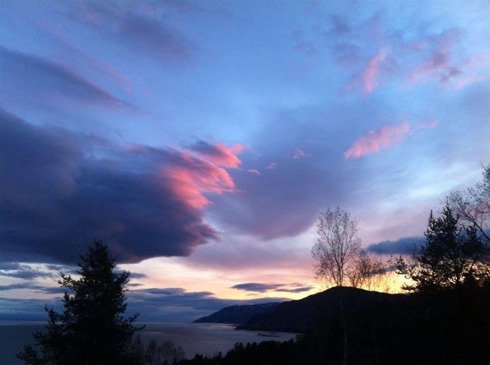
<instances>
[{"instance_id":1,"label":"elongated bright pink cloud slanting up rightward, alone at right of centre","mask_svg":"<svg viewBox=\"0 0 490 365\"><path fill-rule=\"evenodd\" d=\"M400 143L407 134L423 128L434 128L438 124L437 120L420 122L415 127L411 127L408 122L398 125L384 126L375 131L365 133L360 139L344 152L344 159L359 158L363 155L376 153Z\"/></svg>"}]
</instances>

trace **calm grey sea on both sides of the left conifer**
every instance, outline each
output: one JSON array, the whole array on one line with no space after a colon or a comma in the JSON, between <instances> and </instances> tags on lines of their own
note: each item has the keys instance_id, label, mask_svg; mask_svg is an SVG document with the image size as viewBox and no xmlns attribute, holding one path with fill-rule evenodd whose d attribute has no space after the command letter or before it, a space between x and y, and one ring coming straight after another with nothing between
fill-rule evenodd
<instances>
[{"instance_id":1,"label":"calm grey sea on both sides of the left conifer","mask_svg":"<svg viewBox=\"0 0 490 365\"><path fill-rule=\"evenodd\" d=\"M32 332L44 329L45 322L0 322L0 364L22 364L15 354L32 343ZM238 331L221 323L138 322L146 324L140 332L143 342L172 340L180 345L186 357L195 354L226 353L236 342L287 341L295 334L267 331Z\"/></svg>"}]
</instances>

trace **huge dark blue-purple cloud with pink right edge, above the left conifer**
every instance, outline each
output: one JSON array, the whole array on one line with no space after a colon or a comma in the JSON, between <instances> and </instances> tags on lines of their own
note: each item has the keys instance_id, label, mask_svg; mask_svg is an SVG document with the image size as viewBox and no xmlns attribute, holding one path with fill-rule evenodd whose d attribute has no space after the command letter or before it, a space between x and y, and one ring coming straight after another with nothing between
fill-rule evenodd
<instances>
[{"instance_id":1,"label":"huge dark blue-purple cloud with pink right edge, above the left conifer","mask_svg":"<svg viewBox=\"0 0 490 365\"><path fill-rule=\"evenodd\" d=\"M216 240L208 195L234 191L228 172L173 148L124 149L0 112L4 260L77 262L94 237L120 262L187 256Z\"/></svg>"}]
</instances>

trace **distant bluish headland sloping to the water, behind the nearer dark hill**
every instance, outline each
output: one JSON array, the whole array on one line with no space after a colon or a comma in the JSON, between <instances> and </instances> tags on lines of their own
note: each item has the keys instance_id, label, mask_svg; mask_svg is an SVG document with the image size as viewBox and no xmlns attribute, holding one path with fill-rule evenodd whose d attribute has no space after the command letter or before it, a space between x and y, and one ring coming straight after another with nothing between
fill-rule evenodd
<instances>
[{"instance_id":1,"label":"distant bluish headland sloping to the water, behind the nearer dark hill","mask_svg":"<svg viewBox=\"0 0 490 365\"><path fill-rule=\"evenodd\" d=\"M195 320L194 323L243 323L254 315L266 313L278 304L281 303L232 305L220 309L209 316L201 317Z\"/></svg>"}]
</instances>

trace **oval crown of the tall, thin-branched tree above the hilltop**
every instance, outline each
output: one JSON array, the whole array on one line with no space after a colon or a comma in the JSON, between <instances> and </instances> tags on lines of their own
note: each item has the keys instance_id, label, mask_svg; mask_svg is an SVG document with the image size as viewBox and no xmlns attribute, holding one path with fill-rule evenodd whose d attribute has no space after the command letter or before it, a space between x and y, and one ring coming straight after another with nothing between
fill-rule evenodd
<instances>
[{"instance_id":1,"label":"oval crown of the tall, thin-branched tree above the hilltop","mask_svg":"<svg viewBox=\"0 0 490 365\"><path fill-rule=\"evenodd\" d=\"M357 221L340 208L323 212L316 223L318 239L311 249L315 276L327 284L343 286L346 268L358 253Z\"/></svg>"}]
</instances>

